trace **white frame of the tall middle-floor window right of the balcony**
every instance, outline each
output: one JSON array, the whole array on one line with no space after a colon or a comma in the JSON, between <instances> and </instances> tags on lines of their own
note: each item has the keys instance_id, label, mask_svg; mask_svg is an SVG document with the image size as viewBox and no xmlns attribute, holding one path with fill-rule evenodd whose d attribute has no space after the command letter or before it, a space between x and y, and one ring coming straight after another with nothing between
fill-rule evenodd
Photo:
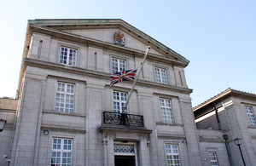
<instances>
[{"instance_id":1,"label":"white frame of the tall middle-floor window right of the balcony","mask_svg":"<svg viewBox=\"0 0 256 166\"><path fill-rule=\"evenodd\" d=\"M164 101L163 102L164 106L162 105L161 100ZM168 101L169 101L170 106L167 106ZM173 112L173 109L172 109L172 99L166 99L166 98L160 97L159 98L159 108L160 108L161 122L162 123L174 124L175 123L175 118L174 118L174 112ZM163 109L165 109L165 112L163 111ZM168 115L168 113L169 113L169 115ZM166 117L166 118L164 118L164 117Z\"/></svg>"}]
</instances>

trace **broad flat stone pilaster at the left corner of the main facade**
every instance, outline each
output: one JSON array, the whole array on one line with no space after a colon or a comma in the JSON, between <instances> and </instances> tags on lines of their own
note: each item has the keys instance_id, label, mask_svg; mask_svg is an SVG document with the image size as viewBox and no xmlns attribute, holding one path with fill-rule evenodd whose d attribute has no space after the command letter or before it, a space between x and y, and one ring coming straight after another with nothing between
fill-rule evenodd
<instances>
[{"instance_id":1,"label":"broad flat stone pilaster at the left corner of the main facade","mask_svg":"<svg viewBox=\"0 0 256 166\"><path fill-rule=\"evenodd\" d=\"M27 71L30 67L27 67ZM10 165L37 165L46 76L26 72Z\"/></svg>"}]
</instances>

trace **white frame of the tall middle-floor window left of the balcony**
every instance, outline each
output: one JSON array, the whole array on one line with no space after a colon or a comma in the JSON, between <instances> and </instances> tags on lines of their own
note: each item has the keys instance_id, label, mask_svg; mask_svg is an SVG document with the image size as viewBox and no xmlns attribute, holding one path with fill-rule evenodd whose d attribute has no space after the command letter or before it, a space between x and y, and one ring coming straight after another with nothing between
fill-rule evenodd
<instances>
[{"instance_id":1,"label":"white frame of the tall middle-floor window left of the balcony","mask_svg":"<svg viewBox=\"0 0 256 166\"><path fill-rule=\"evenodd\" d=\"M60 84L64 84L64 92L59 90L61 89L61 87L59 87ZM68 85L70 87L73 87L73 89L70 89L70 91L73 91L73 93L67 92ZM63 96L64 98L61 98ZM67 100L69 100L69 103L67 103ZM71 102L72 100L73 102ZM61 111L61 109L63 110ZM56 93L55 93L55 112L73 114L74 109L75 109L75 83L65 83L65 82L58 81L56 84Z\"/></svg>"}]
</instances>

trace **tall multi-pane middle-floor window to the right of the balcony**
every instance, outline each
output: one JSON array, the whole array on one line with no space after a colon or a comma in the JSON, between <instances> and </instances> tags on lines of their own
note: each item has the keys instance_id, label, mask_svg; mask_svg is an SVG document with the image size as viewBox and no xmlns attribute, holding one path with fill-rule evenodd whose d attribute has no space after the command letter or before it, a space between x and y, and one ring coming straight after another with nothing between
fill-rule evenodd
<instances>
[{"instance_id":1,"label":"tall multi-pane middle-floor window to the right of the balcony","mask_svg":"<svg viewBox=\"0 0 256 166\"><path fill-rule=\"evenodd\" d=\"M163 123L174 123L171 100L160 99L160 112Z\"/></svg>"}]
</instances>

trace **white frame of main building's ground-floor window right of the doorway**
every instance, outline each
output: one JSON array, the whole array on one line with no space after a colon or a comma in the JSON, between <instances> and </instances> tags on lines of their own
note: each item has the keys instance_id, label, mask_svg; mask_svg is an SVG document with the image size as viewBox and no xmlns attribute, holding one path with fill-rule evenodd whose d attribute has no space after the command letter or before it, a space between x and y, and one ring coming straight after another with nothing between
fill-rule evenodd
<instances>
[{"instance_id":1,"label":"white frame of main building's ground-floor window right of the doorway","mask_svg":"<svg viewBox=\"0 0 256 166\"><path fill-rule=\"evenodd\" d=\"M167 149L167 146L170 146L171 149ZM173 146L177 146L177 149L175 149L177 151L176 152L173 152ZM166 150L166 165L168 166L181 166L181 155L180 155L180 151L179 151L179 145L177 143L171 143L171 142L166 142L165 143L165 150ZM167 151L172 151L172 152L167 152ZM177 156L177 164L173 164L175 158L174 156ZM168 161L172 161L172 162L168 162Z\"/></svg>"}]
</instances>

